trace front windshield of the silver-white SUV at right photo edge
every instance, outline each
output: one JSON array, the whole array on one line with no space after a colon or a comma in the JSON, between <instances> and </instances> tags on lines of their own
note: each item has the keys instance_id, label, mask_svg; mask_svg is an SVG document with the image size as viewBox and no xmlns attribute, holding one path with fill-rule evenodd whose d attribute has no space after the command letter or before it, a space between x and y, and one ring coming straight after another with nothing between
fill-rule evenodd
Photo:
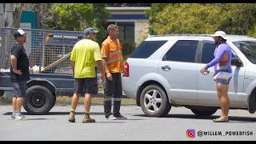
<instances>
[{"instance_id":1,"label":"front windshield of the silver-white SUV at right photo edge","mask_svg":"<svg viewBox=\"0 0 256 144\"><path fill-rule=\"evenodd\" d=\"M250 62L256 64L256 41L236 41L233 43Z\"/></svg>"}]
</instances>

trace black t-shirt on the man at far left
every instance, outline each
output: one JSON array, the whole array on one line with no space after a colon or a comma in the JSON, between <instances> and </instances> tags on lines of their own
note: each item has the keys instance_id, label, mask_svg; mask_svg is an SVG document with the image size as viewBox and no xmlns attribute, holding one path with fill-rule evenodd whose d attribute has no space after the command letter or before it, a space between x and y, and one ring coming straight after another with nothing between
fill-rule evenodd
<instances>
[{"instance_id":1,"label":"black t-shirt on the man at far left","mask_svg":"<svg viewBox=\"0 0 256 144\"><path fill-rule=\"evenodd\" d=\"M10 51L10 55L14 55L17 58L17 70L22 70L22 75L15 74L13 67L10 64L11 82L30 80L30 62L24 47L19 43L15 43Z\"/></svg>"}]
</instances>

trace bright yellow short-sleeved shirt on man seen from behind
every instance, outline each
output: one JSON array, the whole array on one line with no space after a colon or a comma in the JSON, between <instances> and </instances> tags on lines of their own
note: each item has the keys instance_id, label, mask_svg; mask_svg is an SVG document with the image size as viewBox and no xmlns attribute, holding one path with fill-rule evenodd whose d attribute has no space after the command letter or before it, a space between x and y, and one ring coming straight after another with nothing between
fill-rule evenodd
<instances>
[{"instance_id":1,"label":"bright yellow short-sleeved shirt on man seen from behind","mask_svg":"<svg viewBox=\"0 0 256 144\"><path fill-rule=\"evenodd\" d=\"M74 78L96 78L96 62L102 60L98 43L90 39L78 41L71 52L70 60L75 62Z\"/></svg>"}]
</instances>

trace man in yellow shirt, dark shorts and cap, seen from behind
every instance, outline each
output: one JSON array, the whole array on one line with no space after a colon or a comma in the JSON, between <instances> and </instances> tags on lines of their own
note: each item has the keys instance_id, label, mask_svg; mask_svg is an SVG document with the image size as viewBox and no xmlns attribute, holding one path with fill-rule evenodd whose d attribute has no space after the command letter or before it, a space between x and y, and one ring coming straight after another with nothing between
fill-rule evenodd
<instances>
[{"instance_id":1,"label":"man in yellow shirt, dark shorts and cap, seen from behind","mask_svg":"<svg viewBox=\"0 0 256 144\"><path fill-rule=\"evenodd\" d=\"M78 106L78 99L83 92L85 92L85 113L82 122L95 122L94 118L90 118L90 102L91 95L98 94L98 82L95 71L96 65L102 73L102 83L106 81L100 47L97 42L94 42L96 41L96 33L98 33L98 31L87 28L84 33L86 38L74 45L70 56L74 74L74 95L71 102L69 122L75 122L75 109Z\"/></svg>"}]
</instances>

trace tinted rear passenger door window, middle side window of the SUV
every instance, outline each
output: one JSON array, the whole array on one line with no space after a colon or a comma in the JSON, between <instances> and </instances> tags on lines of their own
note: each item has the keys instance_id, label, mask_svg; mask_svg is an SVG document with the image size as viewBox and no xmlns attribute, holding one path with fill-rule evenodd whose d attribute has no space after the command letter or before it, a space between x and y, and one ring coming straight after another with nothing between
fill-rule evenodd
<instances>
[{"instance_id":1,"label":"tinted rear passenger door window, middle side window of the SUV","mask_svg":"<svg viewBox=\"0 0 256 144\"><path fill-rule=\"evenodd\" d=\"M176 62L194 62L198 41L178 41L166 53L163 60Z\"/></svg>"}]
</instances>

